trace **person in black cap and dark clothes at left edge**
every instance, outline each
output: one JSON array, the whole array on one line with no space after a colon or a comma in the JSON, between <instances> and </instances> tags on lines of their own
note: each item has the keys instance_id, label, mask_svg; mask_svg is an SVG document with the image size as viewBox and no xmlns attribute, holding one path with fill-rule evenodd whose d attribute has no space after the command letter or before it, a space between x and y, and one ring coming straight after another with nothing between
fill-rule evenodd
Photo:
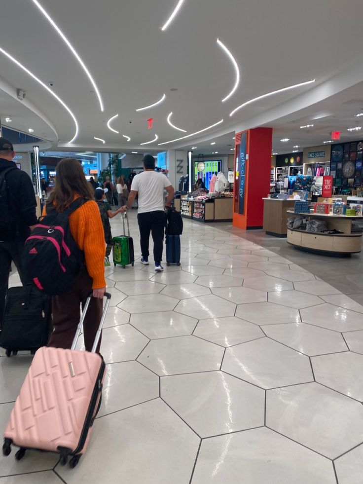
<instances>
[{"instance_id":1,"label":"person in black cap and dark clothes at left edge","mask_svg":"<svg viewBox=\"0 0 363 484\"><path fill-rule=\"evenodd\" d=\"M26 283L21 267L25 239L36 224L36 197L30 177L13 162L15 151L10 141L0 138L0 322L11 261Z\"/></svg>"}]
</instances>

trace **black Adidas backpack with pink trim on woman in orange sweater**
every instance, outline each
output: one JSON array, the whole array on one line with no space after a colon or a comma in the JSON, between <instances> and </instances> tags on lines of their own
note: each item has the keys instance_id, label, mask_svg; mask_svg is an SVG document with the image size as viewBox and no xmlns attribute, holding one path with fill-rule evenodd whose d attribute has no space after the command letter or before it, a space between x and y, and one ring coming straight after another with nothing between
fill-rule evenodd
<instances>
[{"instance_id":1,"label":"black Adidas backpack with pink trim on woman in orange sweater","mask_svg":"<svg viewBox=\"0 0 363 484\"><path fill-rule=\"evenodd\" d=\"M43 293L64 294L73 288L84 267L84 254L75 243L69 216L86 200L77 198L63 212L46 206L30 237L25 241L23 268L29 281Z\"/></svg>"}]
</instances>

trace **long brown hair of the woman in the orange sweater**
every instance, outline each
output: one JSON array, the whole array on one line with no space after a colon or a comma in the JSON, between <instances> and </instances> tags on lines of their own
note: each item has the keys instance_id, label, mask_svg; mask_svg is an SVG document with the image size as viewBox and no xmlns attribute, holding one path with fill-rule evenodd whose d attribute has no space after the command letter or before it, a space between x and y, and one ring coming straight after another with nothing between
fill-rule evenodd
<instances>
[{"instance_id":1,"label":"long brown hair of the woman in the orange sweater","mask_svg":"<svg viewBox=\"0 0 363 484\"><path fill-rule=\"evenodd\" d=\"M57 165L55 187L48 203L53 203L57 212L62 212L73 202L76 194L87 200L95 199L92 185L87 183L79 160L64 158Z\"/></svg>"}]
</instances>

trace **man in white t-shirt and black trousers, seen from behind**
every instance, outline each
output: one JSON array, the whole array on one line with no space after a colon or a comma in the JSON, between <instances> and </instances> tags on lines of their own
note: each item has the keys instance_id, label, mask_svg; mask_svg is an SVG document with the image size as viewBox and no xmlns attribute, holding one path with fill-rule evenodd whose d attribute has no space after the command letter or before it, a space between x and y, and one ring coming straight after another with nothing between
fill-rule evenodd
<instances>
[{"instance_id":1,"label":"man in white t-shirt and black trousers, seen from behind","mask_svg":"<svg viewBox=\"0 0 363 484\"><path fill-rule=\"evenodd\" d=\"M132 181L131 191L127 200L127 209L130 210L136 195L139 195L138 222L140 229L141 263L149 264L149 238L150 232L154 241L155 271L161 272L163 255L163 240L165 230L165 210L170 207L174 197L174 188L166 175L157 173L155 158L147 154L143 159L144 172L136 175ZM168 192L164 204L164 190Z\"/></svg>"}]
</instances>

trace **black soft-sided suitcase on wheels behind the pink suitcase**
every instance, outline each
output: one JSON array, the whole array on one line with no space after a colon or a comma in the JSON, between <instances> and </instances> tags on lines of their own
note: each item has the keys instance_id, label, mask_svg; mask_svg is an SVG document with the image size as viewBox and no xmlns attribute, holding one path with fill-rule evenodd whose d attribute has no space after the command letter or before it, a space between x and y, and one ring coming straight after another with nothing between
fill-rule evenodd
<instances>
[{"instance_id":1,"label":"black soft-sided suitcase on wheels behind the pink suitcase","mask_svg":"<svg viewBox=\"0 0 363 484\"><path fill-rule=\"evenodd\" d=\"M8 290L1 324L0 346L6 356L32 354L48 342L52 329L50 297L32 285Z\"/></svg>"}]
</instances>

